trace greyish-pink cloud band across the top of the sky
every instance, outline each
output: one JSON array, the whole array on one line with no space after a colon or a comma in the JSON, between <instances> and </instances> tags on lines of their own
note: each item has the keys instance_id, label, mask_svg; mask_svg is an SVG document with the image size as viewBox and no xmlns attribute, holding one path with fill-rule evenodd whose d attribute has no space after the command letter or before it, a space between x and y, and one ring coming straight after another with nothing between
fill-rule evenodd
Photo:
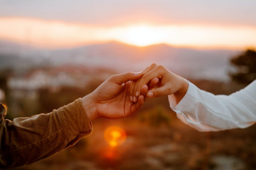
<instances>
[{"instance_id":1,"label":"greyish-pink cloud band across the top of the sky","mask_svg":"<svg viewBox=\"0 0 256 170\"><path fill-rule=\"evenodd\" d=\"M61 20L89 25L134 23L256 26L256 1L95 0L0 1L0 16Z\"/></svg>"}]
</instances>

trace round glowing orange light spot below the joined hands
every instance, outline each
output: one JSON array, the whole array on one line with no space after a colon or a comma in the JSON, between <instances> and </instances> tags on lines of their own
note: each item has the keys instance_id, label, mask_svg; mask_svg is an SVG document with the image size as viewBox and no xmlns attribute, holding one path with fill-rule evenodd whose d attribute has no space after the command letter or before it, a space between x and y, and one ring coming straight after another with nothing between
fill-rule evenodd
<instances>
[{"instance_id":1,"label":"round glowing orange light spot below the joined hands","mask_svg":"<svg viewBox=\"0 0 256 170\"><path fill-rule=\"evenodd\" d=\"M117 126L110 126L108 129L105 130L104 138L110 146L115 147L118 145L122 145L123 142L126 141L126 133L125 130L123 130L122 128L119 128Z\"/></svg>"}]
</instances>

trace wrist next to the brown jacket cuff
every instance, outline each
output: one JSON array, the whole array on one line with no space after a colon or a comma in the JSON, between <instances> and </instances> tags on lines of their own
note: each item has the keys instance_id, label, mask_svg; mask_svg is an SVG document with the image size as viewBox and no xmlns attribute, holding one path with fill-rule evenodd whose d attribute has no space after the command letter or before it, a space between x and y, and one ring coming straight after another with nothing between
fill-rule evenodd
<instances>
[{"instance_id":1,"label":"wrist next to the brown jacket cuff","mask_svg":"<svg viewBox=\"0 0 256 170\"><path fill-rule=\"evenodd\" d=\"M84 106L87 117L90 121L93 121L98 117L96 105L91 97L91 95L87 95L82 97L82 105Z\"/></svg>"}]
</instances>

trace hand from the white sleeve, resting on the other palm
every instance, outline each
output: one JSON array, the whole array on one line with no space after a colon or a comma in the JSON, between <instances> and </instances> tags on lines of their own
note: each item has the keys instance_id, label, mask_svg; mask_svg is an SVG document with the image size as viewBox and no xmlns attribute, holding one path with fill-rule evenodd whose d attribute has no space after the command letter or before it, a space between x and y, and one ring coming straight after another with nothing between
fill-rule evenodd
<instances>
[{"instance_id":1,"label":"hand from the white sleeve, resting on the other palm","mask_svg":"<svg viewBox=\"0 0 256 170\"><path fill-rule=\"evenodd\" d=\"M153 63L150 67L144 70L144 75L132 84L129 94L134 98L141 95L141 88L148 84L150 80L158 78L159 82L155 89L147 92L147 97L158 97L163 95L174 94L177 103L185 96L188 90L188 81L181 76L178 76L167 70L162 65Z\"/></svg>"}]
</instances>

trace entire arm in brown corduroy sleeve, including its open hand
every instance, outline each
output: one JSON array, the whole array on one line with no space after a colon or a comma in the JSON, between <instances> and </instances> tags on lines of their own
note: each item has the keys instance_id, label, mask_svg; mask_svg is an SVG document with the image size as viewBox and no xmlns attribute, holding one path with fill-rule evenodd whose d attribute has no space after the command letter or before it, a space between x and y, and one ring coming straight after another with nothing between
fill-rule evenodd
<instances>
[{"instance_id":1,"label":"entire arm in brown corduroy sleeve, including its open hand","mask_svg":"<svg viewBox=\"0 0 256 170\"><path fill-rule=\"evenodd\" d=\"M133 103L127 92L130 80L142 73L113 75L92 94L48 114L4 120L0 112L0 168L17 167L47 158L92 133L96 118L122 118L138 111L144 103ZM146 94L147 90L142 90ZM1 109L1 108L0 108Z\"/></svg>"}]
</instances>

